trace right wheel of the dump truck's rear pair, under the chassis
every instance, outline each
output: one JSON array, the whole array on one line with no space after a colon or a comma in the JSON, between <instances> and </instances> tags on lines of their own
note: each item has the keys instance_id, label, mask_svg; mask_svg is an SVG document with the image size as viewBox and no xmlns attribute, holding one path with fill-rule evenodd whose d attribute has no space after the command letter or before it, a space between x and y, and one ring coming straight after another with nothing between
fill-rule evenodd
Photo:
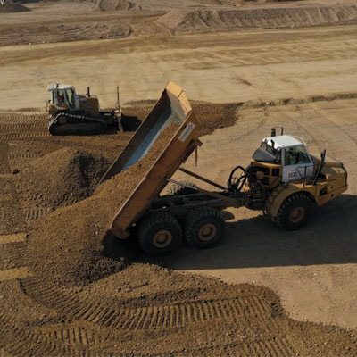
<instances>
[{"instance_id":1,"label":"right wheel of the dump truck's rear pair, under the chassis","mask_svg":"<svg viewBox=\"0 0 357 357\"><path fill-rule=\"evenodd\" d=\"M195 248L215 245L224 235L225 221L220 211L212 207L199 207L187 214L185 237L187 243Z\"/></svg>"}]
</instances>

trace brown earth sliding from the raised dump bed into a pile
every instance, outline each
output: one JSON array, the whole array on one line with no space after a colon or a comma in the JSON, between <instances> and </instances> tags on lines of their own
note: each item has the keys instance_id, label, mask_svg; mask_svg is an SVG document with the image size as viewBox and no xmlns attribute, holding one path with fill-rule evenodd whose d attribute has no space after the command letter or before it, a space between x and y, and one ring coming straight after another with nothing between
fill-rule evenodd
<instances>
[{"instance_id":1,"label":"brown earth sliding from the raised dump bed into a pile","mask_svg":"<svg viewBox=\"0 0 357 357\"><path fill-rule=\"evenodd\" d=\"M56 284L82 285L103 278L125 266L103 255L103 241L112 217L143 179L170 137L177 130L171 125L162 131L145 157L129 169L97 187L95 194L71 206L47 215L29 233L29 266L37 274ZM77 169L69 166L73 172ZM54 177L59 172L54 170ZM71 176L71 172L66 175ZM62 177L58 177L62 181ZM63 180L64 182L67 181ZM54 185L54 180L51 182ZM64 195L69 187L61 186ZM79 187L79 194L81 187ZM78 194L75 194L78 196Z\"/></svg>"}]
</instances>

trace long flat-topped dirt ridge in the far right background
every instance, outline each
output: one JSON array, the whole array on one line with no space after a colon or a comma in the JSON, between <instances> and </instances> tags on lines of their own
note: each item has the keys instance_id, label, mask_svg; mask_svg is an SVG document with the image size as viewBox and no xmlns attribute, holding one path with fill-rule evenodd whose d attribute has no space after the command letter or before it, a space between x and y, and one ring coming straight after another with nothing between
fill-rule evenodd
<instances>
[{"instance_id":1,"label":"long flat-topped dirt ridge in the far right background","mask_svg":"<svg viewBox=\"0 0 357 357\"><path fill-rule=\"evenodd\" d=\"M246 10L175 9L157 23L173 32L210 29L290 28L357 22L357 6L260 8Z\"/></svg>"}]
</instances>

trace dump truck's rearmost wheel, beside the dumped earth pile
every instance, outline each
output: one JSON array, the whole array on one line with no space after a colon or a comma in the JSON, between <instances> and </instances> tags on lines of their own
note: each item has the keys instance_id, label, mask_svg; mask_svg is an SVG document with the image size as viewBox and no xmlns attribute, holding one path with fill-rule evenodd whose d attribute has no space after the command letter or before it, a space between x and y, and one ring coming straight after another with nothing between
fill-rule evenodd
<instances>
[{"instance_id":1,"label":"dump truck's rearmost wheel, beside the dumped earth pile","mask_svg":"<svg viewBox=\"0 0 357 357\"><path fill-rule=\"evenodd\" d=\"M149 255L169 253L181 244L182 228L170 213L155 212L139 222L137 240Z\"/></svg>"}]
</instances>

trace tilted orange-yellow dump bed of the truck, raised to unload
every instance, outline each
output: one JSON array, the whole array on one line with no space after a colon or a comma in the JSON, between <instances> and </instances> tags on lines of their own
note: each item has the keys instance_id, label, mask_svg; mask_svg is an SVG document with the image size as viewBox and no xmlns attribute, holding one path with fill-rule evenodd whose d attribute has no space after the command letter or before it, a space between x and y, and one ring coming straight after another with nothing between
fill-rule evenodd
<instances>
[{"instance_id":1,"label":"tilted orange-yellow dump bed of the truck, raised to unload","mask_svg":"<svg viewBox=\"0 0 357 357\"><path fill-rule=\"evenodd\" d=\"M128 200L112 220L111 230L120 239L129 237L131 228L158 198L168 179L182 162L201 145L199 124L187 96L176 84L169 82L160 100L148 114L120 156L103 179L109 179L142 159L160 137L163 150L144 175Z\"/></svg>"}]
</instances>

